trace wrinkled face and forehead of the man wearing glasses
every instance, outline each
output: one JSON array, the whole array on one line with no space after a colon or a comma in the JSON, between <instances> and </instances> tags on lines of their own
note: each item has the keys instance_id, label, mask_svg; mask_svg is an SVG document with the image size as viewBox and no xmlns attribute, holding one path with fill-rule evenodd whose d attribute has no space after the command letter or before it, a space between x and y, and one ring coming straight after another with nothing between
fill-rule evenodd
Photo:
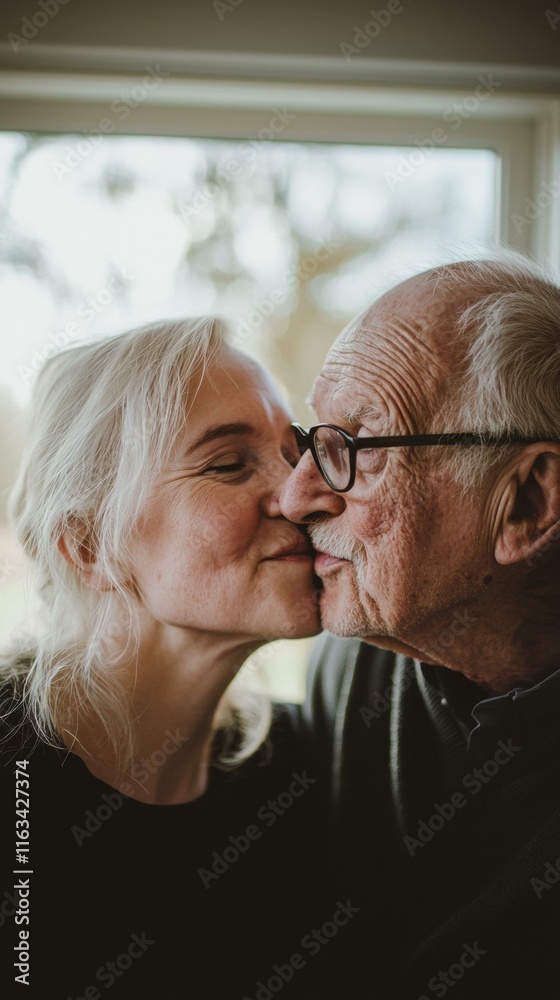
<instances>
[{"instance_id":1,"label":"wrinkled face and forehead of the man wearing glasses","mask_svg":"<svg viewBox=\"0 0 560 1000\"><path fill-rule=\"evenodd\" d=\"M332 348L313 391L318 420L366 437L468 430L437 417L457 364L453 308L421 278L381 299ZM346 494L329 490L307 452L281 506L325 553L315 569L327 629L439 660L438 636L482 588L492 547L484 499L461 497L435 449L359 451Z\"/></svg>"}]
</instances>

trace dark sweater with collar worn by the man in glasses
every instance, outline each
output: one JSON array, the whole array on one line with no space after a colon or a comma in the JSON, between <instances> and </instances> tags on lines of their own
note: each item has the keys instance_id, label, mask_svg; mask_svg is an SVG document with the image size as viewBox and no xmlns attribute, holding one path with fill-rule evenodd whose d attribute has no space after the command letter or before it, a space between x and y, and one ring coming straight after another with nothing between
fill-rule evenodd
<instances>
[{"instance_id":1,"label":"dark sweater with collar worn by the man in glasses","mask_svg":"<svg viewBox=\"0 0 560 1000\"><path fill-rule=\"evenodd\" d=\"M353 1000L556 1000L560 671L489 698L328 638L307 711L334 864L362 906L340 970Z\"/></svg>"}]
</instances>

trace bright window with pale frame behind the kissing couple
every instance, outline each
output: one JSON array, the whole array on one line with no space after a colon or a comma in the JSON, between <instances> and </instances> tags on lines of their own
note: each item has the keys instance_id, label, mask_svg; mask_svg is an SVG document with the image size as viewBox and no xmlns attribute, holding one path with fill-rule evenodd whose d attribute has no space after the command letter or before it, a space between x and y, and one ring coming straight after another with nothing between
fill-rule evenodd
<instances>
[{"instance_id":1,"label":"bright window with pale frame behind the kissing couple","mask_svg":"<svg viewBox=\"0 0 560 1000\"><path fill-rule=\"evenodd\" d=\"M57 345L217 312L289 380L305 422L330 343L401 277L504 237L554 252L550 213L535 200L548 191L556 211L550 183L536 184L547 102L415 95L409 117L398 92L181 90L153 75L144 98L120 81L103 103L103 81L58 90L50 77L33 105L16 95L13 130L0 136L4 499L21 410ZM22 601L5 523L0 545L5 631ZM283 643L274 647L282 658ZM287 690L279 675L278 696L294 695L296 674Z\"/></svg>"}]
</instances>

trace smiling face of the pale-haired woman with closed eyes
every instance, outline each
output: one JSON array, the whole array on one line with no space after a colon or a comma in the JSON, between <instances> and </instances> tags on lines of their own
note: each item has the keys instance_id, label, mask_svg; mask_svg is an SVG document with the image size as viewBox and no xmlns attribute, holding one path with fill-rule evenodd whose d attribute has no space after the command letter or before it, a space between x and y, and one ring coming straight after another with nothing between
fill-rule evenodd
<instances>
[{"instance_id":1,"label":"smiling face of the pale-haired woman with closed eyes","mask_svg":"<svg viewBox=\"0 0 560 1000\"><path fill-rule=\"evenodd\" d=\"M258 638L319 630L312 549L278 506L297 462L265 372L222 348L150 495L130 576L166 625Z\"/></svg>"}]
</instances>

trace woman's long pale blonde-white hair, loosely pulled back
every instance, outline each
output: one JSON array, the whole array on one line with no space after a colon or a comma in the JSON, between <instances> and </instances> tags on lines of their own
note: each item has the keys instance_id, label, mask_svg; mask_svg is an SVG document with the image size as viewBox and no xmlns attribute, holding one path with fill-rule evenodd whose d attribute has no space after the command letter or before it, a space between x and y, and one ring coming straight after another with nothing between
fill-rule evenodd
<instances>
[{"instance_id":1,"label":"woman's long pale blonde-white hair, loosely pulled back","mask_svg":"<svg viewBox=\"0 0 560 1000\"><path fill-rule=\"evenodd\" d=\"M138 649L138 603L119 566L224 342L226 331L213 317L160 322L68 347L39 374L9 511L31 560L40 627L3 651L0 679L11 681L16 704L51 745L60 745L64 730L73 731L85 705L117 759L128 767L133 762L133 720L119 660ZM113 589L88 587L58 552L58 539L76 525L87 526ZM126 640L116 654L115 628ZM269 698L235 679L214 720L223 737L218 762L233 765L253 753L270 718Z\"/></svg>"}]
</instances>

